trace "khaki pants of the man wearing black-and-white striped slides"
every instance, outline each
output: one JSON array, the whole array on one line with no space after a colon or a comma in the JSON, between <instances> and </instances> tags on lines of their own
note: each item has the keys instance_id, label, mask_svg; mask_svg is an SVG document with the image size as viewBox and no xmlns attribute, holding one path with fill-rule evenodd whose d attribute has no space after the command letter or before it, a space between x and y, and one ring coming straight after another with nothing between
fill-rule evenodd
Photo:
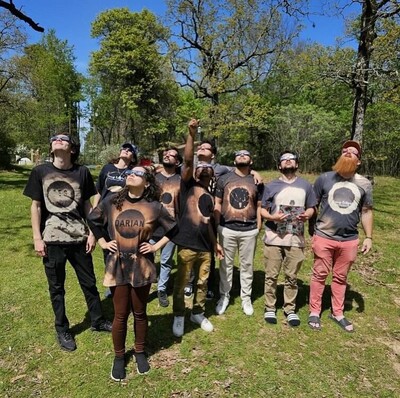
<instances>
[{"instance_id":1,"label":"khaki pants of the man wearing black-and-white striped slides","mask_svg":"<svg viewBox=\"0 0 400 398\"><path fill-rule=\"evenodd\" d=\"M283 289L283 310L286 314L295 312L297 297L297 273L304 261L301 247L264 246L265 258L265 311L276 311L276 285L281 267L285 273Z\"/></svg>"}]
</instances>

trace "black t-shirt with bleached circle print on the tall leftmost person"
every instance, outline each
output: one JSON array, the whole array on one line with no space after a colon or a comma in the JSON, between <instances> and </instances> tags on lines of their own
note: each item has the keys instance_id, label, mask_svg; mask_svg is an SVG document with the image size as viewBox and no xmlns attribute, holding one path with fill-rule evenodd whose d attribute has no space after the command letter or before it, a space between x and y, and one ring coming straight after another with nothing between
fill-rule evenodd
<instances>
[{"instance_id":1,"label":"black t-shirt with bleached circle print on the tall leftmost person","mask_svg":"<svg viewBox=\"0 0 400 398\"><path fill-rule=\"evenodd\" d=\"M96 193L92 175L85 166L68 170L52 163L35 167L24 195L41 202L41 231L48 244L72 244L86 240L88 228L84 203Z\"/></svg>"}]
</instances>

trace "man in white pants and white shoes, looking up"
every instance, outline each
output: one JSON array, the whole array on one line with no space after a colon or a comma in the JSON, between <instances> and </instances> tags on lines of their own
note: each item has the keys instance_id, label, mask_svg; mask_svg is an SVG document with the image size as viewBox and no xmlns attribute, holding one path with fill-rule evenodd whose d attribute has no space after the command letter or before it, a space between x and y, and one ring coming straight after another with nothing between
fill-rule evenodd
<instances>
[{"instance_id":1,"label":"man in white pants and white shoes, looking up","mask_svg":"<svg viewBox=\"0 0 400 398\"><path fill-rule=\"evenodd\" d=\"M254 184L250 174L252 157L249 151L235 152L235 168L217 181L215 191L215 224L224 258L219 268L220 299L217 315L222 315L229 305L232 289L235 254L239 253L240 298L243 312L253 315L251 303L253 262L257 236L261 228L261 196L263 184Z\"/></svg>"}]
</instances>

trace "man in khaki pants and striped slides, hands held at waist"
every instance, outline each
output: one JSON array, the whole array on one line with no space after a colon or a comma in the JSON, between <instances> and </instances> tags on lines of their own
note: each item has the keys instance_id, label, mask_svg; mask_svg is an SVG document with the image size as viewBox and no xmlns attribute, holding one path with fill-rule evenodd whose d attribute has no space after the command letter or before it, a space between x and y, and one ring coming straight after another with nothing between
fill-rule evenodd
<instances>
[{"instance_id":1,"label":"man in khaki pants and striped slides, hands held at waist","mask_svg":"<svg viewBox=\"0 0 400 398\"><path fill-rule=\"evenodd\" d=\"M283 268L283 311L289 326L300 325L296 313L297 274L304 261L304 222L317 204L312 185L297 176L299 157L285 150L278 157L279 178L265 185L261 216L266 221L264 237L264 320L277 323L276 288Z\"/></svg>"}]
</instances>

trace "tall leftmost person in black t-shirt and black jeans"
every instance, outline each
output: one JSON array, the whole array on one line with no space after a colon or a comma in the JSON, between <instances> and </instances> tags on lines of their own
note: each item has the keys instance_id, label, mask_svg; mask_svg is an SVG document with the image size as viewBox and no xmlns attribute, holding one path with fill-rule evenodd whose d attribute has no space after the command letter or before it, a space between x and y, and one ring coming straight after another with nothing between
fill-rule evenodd
<instances>
[{"instance_id":1,"label":"tall leftmost person in black t-shirt and black jeans","mask_svg":"<svg viewBox=\"0 0 400 398\"><path fill-rule=\"evenodd\" d=\"M35 252L42 257L55 315L57 340L62 349L74 351L65 308L66 262L75 270L85 296L93 331L111 332L111 322L102 313L92 251L96 241L86 221L96 193L93 178L77 164L79 144L68 134L50 139L51 163L36 166L24 195L32 199L31 222Z\"/></svg>"}]
</instances>

